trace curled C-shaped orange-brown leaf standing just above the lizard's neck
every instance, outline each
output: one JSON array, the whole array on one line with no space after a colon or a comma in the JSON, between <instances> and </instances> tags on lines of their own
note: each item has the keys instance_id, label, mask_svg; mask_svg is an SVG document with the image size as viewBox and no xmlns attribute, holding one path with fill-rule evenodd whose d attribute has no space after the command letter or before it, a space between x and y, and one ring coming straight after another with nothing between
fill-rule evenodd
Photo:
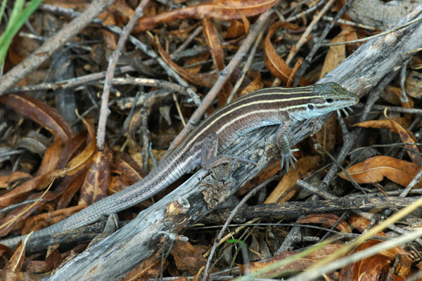
<instances>
[{"instance_id":1,"label":"curled C-shaped orange-brown leaf standing just above the lizard's neck","mask_svg":"<svg viewBox=\"0 0 422 281\"><path fill-rule=\"evenodd\" d=\"M293 25L288 22L276 22L269 28L267 37L265 37L264 43L264 60L265 65L267 65L271 74L279 78L281 81L287 82L290 74L292 74L292 69L286 64L286 62L280 58L279 54L276 52L276 49L271 44L271 36L279 29L279 27L288 28L291 30L298 30L300 27ZM301 78L299 81L301 86L310 85L311 82L306 79Z\"/></svg>"}]
</instances>

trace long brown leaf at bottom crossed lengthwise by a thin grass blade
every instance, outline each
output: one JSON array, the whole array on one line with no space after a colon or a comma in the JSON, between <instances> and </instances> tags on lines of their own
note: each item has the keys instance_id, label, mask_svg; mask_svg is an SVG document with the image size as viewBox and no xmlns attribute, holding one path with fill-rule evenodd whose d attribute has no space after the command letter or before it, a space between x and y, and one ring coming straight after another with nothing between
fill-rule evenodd
<instances>
[{"instance_id":1,"label":"long brown leaf at bottom crossed lengthwise by a thin grass blade","mask_svg":"<svg viewBox=\"0 0 422 281\"><path fill-rule=\"evenodd\" d=\"M283 273L305 270L309 268L310 266L314 265L314 263L317 263L318 261L325 259L327 256L330 256L331 254L333 254L333 252L337 251L341 247L343 247L343 244L326 245L325 247L322 247L321 249L317 249L312 254L309 254L308 256L305 256L302 259L297 259L296 261L293 261L292 263L289 263L286 266L280 266L276 270L273 270L269 273L261 275L260 277L261 278L277 277L277 276L282 275ZM298 253L293 252L293 251L286 251L264 262L248 263L250 273L253 273L256 270L260 270L261 268L269 266L273 263L276 263L277 261L287 259L288 257L293 256L294 254L298 254ZM238 267L241 268L243 273L245 273L245 268L247 268L246 266L238 264Z\"/></svg>"}]
</instances>

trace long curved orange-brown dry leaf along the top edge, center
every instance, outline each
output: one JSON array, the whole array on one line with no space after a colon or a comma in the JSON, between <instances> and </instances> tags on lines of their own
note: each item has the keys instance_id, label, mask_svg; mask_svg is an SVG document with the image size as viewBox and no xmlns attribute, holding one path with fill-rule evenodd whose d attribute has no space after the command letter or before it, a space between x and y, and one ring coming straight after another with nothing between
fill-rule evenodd
<instances>
[{"instance_id":1,"label":"long curved orange-brown dry leaf along the top edge, center","mask_svg":"<svg viewBox=\"0 0 422 281\"><path fill-rule=\"evenodd\" d=\"M151 30L156 25L172 22L174 20L182 20L185 18L194 18L200 20L202 18L219 19L219 20L236 20L242 15L251 17L264 13L276 4L276 0L217 0L200 4L197 6L189 6L180 8L167 13L160 13L151 17L141 18L135 25L133 32L138 33Z\"/></svg>"}]
</instances>

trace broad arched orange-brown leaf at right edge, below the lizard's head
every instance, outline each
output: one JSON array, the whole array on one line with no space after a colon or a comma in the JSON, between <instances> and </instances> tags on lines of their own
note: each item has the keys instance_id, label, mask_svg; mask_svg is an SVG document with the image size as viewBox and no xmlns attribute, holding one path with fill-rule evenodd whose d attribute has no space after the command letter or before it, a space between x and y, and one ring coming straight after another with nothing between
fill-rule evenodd
<instances>
[{"instance_id":1,"label":"broad arched orange-brown leaf at right edge, below the lizard's head","mask_svg":"<svg viewBox=\"0 0 422 281\"><path fill-rule=\"evenodd\" d=\"M387 177L390 181L394 181L404 187L410 183L420 170L421 166L419 165L388 156L372 157L346 169L347 173L357 183L378 183L384 177ZM345 180L349 180L344 172L341 172L339 176ZM421 182L414 186L414 188L421 187Z\"/></svg>"}]
</instances>

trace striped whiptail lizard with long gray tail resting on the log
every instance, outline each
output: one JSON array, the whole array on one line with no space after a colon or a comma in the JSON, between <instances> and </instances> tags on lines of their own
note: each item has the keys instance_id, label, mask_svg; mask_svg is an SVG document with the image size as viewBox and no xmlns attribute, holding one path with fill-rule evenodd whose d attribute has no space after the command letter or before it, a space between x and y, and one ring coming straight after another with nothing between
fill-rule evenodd
<instances>
[{"instance_id":1,"label":"striped whiptail lizard with long gray tail resting on the log","mask_svg":"<svg viewBox=\"0 0 422 281\"><path fill-rule=\"evenodd\" d=\"M281 150L281 168L296 160L290 150L288 132L295 122L344 110L359 98L335 83L299 88L269 88L248 93L233 103L216 110L196 126L186 139L158 167L141 181L89 205L82 211L48 228L33 233L30 239L72 230L98 221L102 216L127 209L155 195L174 183L181 175L201 164L211 169L224 162L250 162L231 155L218 155L242 136L262 126L279 124L277 145ZM25 236L3 240L0 244L14 247Z\"/></svg>"}]
</instances>

